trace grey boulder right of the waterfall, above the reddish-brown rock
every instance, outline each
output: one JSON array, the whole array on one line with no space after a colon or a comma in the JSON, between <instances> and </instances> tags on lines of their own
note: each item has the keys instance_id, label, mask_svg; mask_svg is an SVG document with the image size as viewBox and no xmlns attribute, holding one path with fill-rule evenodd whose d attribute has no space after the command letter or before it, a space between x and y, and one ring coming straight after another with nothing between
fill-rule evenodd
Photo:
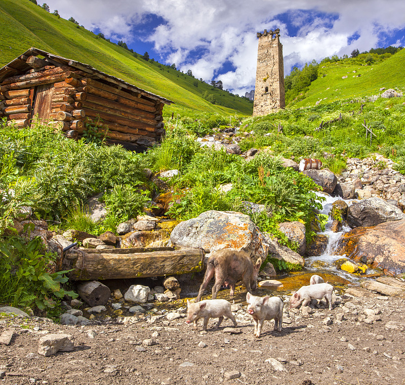
<instances>
[{"instance_id":1,"label":"grey boulder right of the waterfall, above the reddish-brown rock","mask_svg":"<svg viewBox=\"0 0 405 385\"><path fill-rule=\"evenodd\" d=\"M380 223L405 219L400 208L374 197L362 199L349 206L347 223L350 227L376 226Z\"/></svg>"}]
</instances>

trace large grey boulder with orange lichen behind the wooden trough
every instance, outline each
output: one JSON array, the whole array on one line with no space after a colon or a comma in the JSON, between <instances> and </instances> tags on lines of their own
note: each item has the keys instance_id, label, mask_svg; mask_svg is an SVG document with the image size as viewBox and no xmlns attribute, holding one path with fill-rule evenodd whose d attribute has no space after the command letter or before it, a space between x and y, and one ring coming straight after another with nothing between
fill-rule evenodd
<instances>
[{"instance_id":1,"label":"large grey boulder with orange lichen behind the wooden trough","mask_svg":"<svg viewBox=\"0 0 405 385\"><path fill-rule=\"evenodd\" d=\"M244 250L263 260L269 251L265 236L250 217L235 211L205 211L179 223L170 240L176 245L202 247L211 252L222 248Z\"/></svg>"}]
</instances>

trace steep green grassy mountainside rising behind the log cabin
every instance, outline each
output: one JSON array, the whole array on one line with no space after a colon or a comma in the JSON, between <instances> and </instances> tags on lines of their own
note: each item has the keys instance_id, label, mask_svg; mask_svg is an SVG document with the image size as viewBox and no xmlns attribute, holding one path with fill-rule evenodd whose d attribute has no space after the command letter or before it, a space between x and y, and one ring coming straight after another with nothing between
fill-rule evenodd
<instances>
[{"instance_id":1,"label":"steep green grassy mountainside rising behind the log cabin","mask_svg":"<svg viewBox=\"0 0 405 385\"><path fill-rule=\"evenodd\" d=\"M124 79L144 90L173 100L174 110L193 109L204 112L251 114L253 105L227 92L213 90L179 71L145 62L121 47L98 38L76 24L58 19L28 0L2 0L0 8L0 66L3 66L29 47L36 47L83 63ZM169 70L169 72L168 72ZM213 105L201 96L213 93L227 107Z\"/></svg>"}]
</instances>

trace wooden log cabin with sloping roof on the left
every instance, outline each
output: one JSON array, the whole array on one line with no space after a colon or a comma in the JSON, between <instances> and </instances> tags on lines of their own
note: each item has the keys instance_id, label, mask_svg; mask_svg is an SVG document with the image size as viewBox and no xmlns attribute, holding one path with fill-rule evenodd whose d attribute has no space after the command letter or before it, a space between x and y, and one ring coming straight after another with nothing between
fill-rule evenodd
<instances>
[{"instance_id":1,"label":"wooden log cabin with sloping roof on the left","mask_svg":"<svg viewBox=\"0 0 405 385\"><path fill-rule=\"evenodd\" d=\"M36 118L72 139L91 122L112 143L159 140L163 106L171 103L88 64L36 48L0 69L0 118L18 128Z\"/></svg>"}]
</instances>

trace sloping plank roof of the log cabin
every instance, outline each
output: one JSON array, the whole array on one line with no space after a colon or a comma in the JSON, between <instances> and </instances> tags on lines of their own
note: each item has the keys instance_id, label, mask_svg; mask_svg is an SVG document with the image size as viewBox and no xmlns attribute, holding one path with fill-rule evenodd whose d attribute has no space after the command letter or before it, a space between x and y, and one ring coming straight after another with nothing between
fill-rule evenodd
<instances>
[{"instance_id":1,"label":"sloping plank roof of the log cabin","mask_svg":"<svg viewBox=\"0 0 405 385\"><path fill-rule=\"evenodd\" d=\"M80 63L80 62L78 62L76 60L72 60L72 59L66 59L61 56L57 56L57 55L51 54L49 52L39 50L34 47L31 47L29 50L27 50L26 52L21 54L19 57L17 57L13 61L11 61L9 64L6 64L4 67L0 68L0 82L5 80L7 77L14 76L19 73L25 73L26 71L32 69L25 62L25 60L21 59L21 57L38 56L38 55L43 56L44 58L46 58L47 61L49 61L53 65L56 65L56 66L67 65L67 66L76 68L80 71L87 72L89 74L89 77L97 78L97 79L107 81L109 83L113 83L117 87L121 87L121 88L129 90L129 91L137 92L145 97L159 100L160 102L165 103L165 104L174 103L173 101L171 101L169 99L166 99L159 95L152 94L151 92L142 90L142 89L136 87L136 85L128 83L123 79L119 79L118 77L108 75L105 72L102 72L96 68L93 68L89 64Z\"/></svg>"}]
</instances>

